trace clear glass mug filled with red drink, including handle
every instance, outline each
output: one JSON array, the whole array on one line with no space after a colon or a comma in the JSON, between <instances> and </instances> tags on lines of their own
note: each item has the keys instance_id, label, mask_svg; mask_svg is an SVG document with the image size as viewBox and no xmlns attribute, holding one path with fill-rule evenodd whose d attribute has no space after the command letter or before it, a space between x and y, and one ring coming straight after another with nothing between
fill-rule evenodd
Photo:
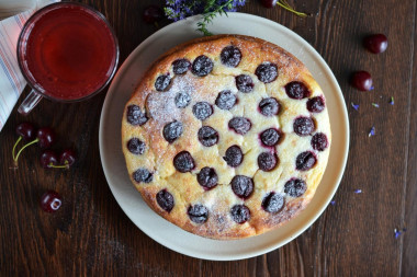
<instances>
[{"instance_id":1,"label":"clear glass mug filled with red drink, including handle","mask_svg":"<svg viewBox=\"0 0 417 277\"><path fill-rule=\"evenodd\" d=\"M75 2L49 4L24 24L18 61L31 93L19 113L27 114L42 97L78 102L99 93L119 62L119 44L104 15Z\"/></svg>"}]
</instances>

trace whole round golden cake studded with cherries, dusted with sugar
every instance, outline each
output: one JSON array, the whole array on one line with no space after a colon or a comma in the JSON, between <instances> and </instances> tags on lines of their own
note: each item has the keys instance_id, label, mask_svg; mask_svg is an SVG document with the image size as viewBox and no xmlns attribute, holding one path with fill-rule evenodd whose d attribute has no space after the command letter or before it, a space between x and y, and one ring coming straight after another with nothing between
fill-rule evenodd
<instances>
[{"instance_id":1,"label":"whole round golden cake studded with cherries, dusted with sugar","mask_svg":"<svg viewBox=\"0 0 417 277\"><path fill-rule=\"evenodd\" d=\"M263 233L311 201L331 141L325 96L282 48L218 35L169 50L127 102L128 175L160 216L192 233Z\"/></svg>"}]
</instances>

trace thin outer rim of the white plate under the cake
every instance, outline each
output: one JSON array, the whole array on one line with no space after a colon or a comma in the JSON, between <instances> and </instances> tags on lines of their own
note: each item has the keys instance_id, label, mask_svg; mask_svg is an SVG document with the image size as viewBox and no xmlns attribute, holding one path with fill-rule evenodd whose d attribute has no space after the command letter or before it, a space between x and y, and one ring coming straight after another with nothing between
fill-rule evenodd
<instances>
[{"instance_id":1,"label":"thin outer rim of the white plate under the cake","mask_svg":"<svg viewBox=\"0 0 417 277\"><path fill-rule=\"evenodd\" d=\"M345 130L345 134L346 134L345 141L343 141L345 142L343 143L345 147L343 147L343 149L341 149L343 151L343 155L342 155L343 159L341 161L341 165L342 166L340 168L340 170L339 170L339 172L337 174L337 177L335 178L336 182L335 182L335 185L333 186L331 192L327 193L327 196L325 197L325 199L323 201L323 205L319 207L319 209L317 210L317 212L313 217L308 218L308 220L306 220L306 222L302 223L301 228L298 228L295 232L291 233L291 235L289 235L288 238L285 238L281 242L270 244L269 246L264 246L264 247L262 247L260 250L257 250L257 251L248 251L248 252L245 252L243 254L236 253L233 256L229 256L227 254L222 255L222 256L213 256L211 254L206 254L206 255L204 255L204 254L203 255L193 255L193 254L187 253L185 251L182 251L182 249L177 249L177 247L173 247L172 245L167 245L167 243L160 242L158 239L156 239L153 233L144 231L139 226L136 224L136 222L133 220L133 218L131 217L131 215L128 212L126 212L125 207L123 207L121 205L120 200L116 197L116 193L114 191L115 187L113 186L113 184L111 184L111 182L109 182L109 180L110 180L109 174L110 173L108 172L108 170L105 168L106 161L103 158L103 151L104 151L103 150L103 148L104 148L104 146L103 146L104 145L104 142L103 142L103 137L104 137L103 136L103 132L104 132L103 122L105 122L105 119L106 119L106 111L108 111L108 106L110 105L110 99L111 97L109 95L112 94L112 93L114 93L113 92L114 88L116 86L116 83L119 83L120 80L122 79L122 76L123 76L125 69L128 68L132 64L134 64L134 60L135 60L134 57L136 57L137 54L143 48L149 47L149 45L151 44L151 42L155 41L156 38L158 38L162 33L169 32L170 30L178 27L178 25L187 24L187 23L190 23L191 21L195 21L195 20L199 20L201 18L202 18L201 15L190 16L190 18L187 18L185 20L171 23L171 24L169 24L169 25L167 25L167 26L158 30L157 32L155 32L154 34L151 34L150 36L148 36L145 41L143 41L138 46L136 46L136 48L126 57L126 59L123 61L122 66L117 69L117 72L114 76L114 78L113 78L113 80L111 82L111 85L109 86L109 90L108 90L108 93L106 93L106 96L105 96L105 100L104 100L104 103L103 103L103 107L102 107L102 111L101 111L101 116L100 116L100 127L99 127L100 159L101 159L101 164L102 164L103 172L104 172L104 175L105 175L105 180L108 182L108 185L109 185L109 187L110 187L110 189L111 189L111 192L113 194L113 197L115 198L117 205L122 208L123 212L128 217L128 219L142 232L144 232L146 235L148 235L149 238L151 238L154 241L158 242L159 244L161 244L165 247L168 247L168 249L170 249L170 250L172 250L174 252L181 253L181 254L187 255L187 256L195 257L195 258L202 258L202 259L207 259L207 261L236 261L236 259L249 258L249 257L253 257L253 256L258 256L258 255L262 255L262 254L269 253L269 252L271 252L273 250L277 250L277 249L285 245L286 243L291 242L292 240L294 240L295 238L297 238L300 234L302 234L306 229L308 229L323 215L323 212L327 208L328 204L333 199L334 195L336 194L336 192L337 192L337 189L338 189L338 187L340 185L341 178L343 176L345 170L346 170L346 164L347 164L348 154L349 154L349 145L350 145L349 117L348 117L348 112L347 112L347 106L346 106L345 97L342 95L342 91L340 89L340 85L339 85L339 83L338 83L335 74L333 73L331 69L329 68L329 66L327 65L327 62L325 61L325 59L302 36L300 36L298 34L296 34L292 30L290 30L290 28L288 28L288 27L285 27L285 26L283 26L281 24L279 24L279 23L277 23L274 21L266 19L266 18L261 18L261 16L253 15L253 14L248 14L248 13L241 13L241 12L228 13L228 18L229 19L233 19L233 18L239 19L240 18L240 19L250 20L250 21L259 21L262 24L273 25L273 27L279 28L280 32L283 32L285 35L292 36L292 38L294 38L295 41L300 41L303 44L303 47L308 48L309 53L313 55L313 58L317 59L318 61L320 61L318 64L318 66L322 67L322 69L324 71L324 73L326 74L326 77L330 79L330 83L336 89L336 92L334 93L334 95L336 96L336 99L338 100L338 102L342 104L341 105L341 107L342 107L341 108L341 114L343 116L340 118L340 120L343 123L343 130ZM326 172L324 174L326 174ZM243 240L245 240L245 239L243 239Z\"/></svg>"}]
</instances>

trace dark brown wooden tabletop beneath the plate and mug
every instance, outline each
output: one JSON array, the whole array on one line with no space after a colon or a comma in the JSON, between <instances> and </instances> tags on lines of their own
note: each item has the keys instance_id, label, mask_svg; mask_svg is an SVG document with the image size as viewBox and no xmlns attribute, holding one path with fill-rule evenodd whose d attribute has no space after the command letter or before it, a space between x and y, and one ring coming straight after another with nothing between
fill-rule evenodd
<instances>
[{"instance_id":1,"label":"dark brown wooden tabletop beneath the plate and mug","mask_svg":"<svg viewBox=\"0 0 417 277\"><path fill-rule=\"evenodd\" d=\"M143 23L144 7L164 1L84 2L104 13L114 26L123 61L157 31ZM289 2L315 15L297 18L280 8L264 9L257 0L240 11L298 33L324 57L340 83L351 141L336 205L297 239L266 255L210 262L178 254L136 228L109 189L98 145L105 92L77 104L43 101L27 118L14 109L0 134L1 275L415 276L416 1ZM161 25L166 24L169 22ZM388 36L386 53L372 55L362 47L363 36L370 33ZM372 92L349 85L350 73L361 69L373 76ZM395 99L393 106L388 104L391 96ZM358 112L351 102L360 104ZM10 169L18 138L14 129L23 120L52 126L60 135L55 148L76 148L77 164L69 171L44 170L38 162L40 150L33 147L20 160L19 170ZM368 137L372 126L376 135ZM354 193L358 188L361 194ZM46 189L55 189L64 198L61 209L54 215L38 207ZM395 228L406 231L395 238Z\"/></svg>"}]
</instances>

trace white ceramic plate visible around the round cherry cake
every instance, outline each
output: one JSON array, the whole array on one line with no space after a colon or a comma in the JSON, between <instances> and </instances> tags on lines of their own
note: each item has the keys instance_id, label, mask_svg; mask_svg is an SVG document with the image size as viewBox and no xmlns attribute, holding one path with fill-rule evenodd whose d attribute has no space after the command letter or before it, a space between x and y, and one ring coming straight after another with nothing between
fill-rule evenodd
<instances>
[{"instance_id":1,"label":"white ceramic plate visible around the round cherry cake","mask_svg":"<svg viewBox=\"0 0 417 277\"><path fill-rule=\"evenodd\" d=\"M339 185L349 148L348 114L340 88L331 70L302 37L262 18L229 13L214 20L215 34L243 34L263 38L302 60L320 84L330 116L333 145L327 170L307 209L277 230L237 241L215 241L183 231L155 213L131 183L121 147L121 120L140 76L169 48L201 36L195 31L199 16L170 24L143 42L124 61L105 97L100 120L100 153L105 177L119 205L131 220L160 244L182 254L215 261L257 256L290 242L307 229L325 210Z\"/></svg>"}]
</instances>

